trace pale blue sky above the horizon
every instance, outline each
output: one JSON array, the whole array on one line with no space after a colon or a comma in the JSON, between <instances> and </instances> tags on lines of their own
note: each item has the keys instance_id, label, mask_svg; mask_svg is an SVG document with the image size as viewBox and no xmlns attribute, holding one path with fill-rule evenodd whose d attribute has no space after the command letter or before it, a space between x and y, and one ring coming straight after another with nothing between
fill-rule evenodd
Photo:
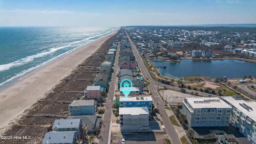
<instances>
[{"instance_id":1,"label":"pale blue sky above the horizon","mask_svg":"<svg viewBox=\"0 0 256 144\"><path fill-rule=\"evenodd\" d=\"M0 26L256 24L256 0L0 0Z\"/></svg>"}]
</instances>

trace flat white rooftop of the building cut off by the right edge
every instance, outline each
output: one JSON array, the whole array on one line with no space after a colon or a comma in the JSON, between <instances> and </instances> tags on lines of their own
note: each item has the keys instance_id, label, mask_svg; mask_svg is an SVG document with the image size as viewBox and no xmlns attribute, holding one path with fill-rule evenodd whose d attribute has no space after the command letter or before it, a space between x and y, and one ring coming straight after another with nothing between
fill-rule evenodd
<instances>
[{"instance_id":1,"label":"flat white rooftop of the building cut off by the right edge","mask_svg":"<svg viewBox=\"0 0 256 144\"><path fill-rule=\"evenodd\" d=\"M236 107L240 112L250 117L254 122L256 122L256 102L245 101L245 100L235 100L231 96L222 96L223 100Z\"/></svg>"}]
</instances>

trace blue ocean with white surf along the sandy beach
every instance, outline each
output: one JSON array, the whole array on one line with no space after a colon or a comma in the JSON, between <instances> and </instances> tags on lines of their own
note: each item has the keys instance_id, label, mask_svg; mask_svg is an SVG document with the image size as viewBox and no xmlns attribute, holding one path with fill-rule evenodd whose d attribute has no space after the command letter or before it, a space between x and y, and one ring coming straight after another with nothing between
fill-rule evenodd
<instances>
[{"instance_id":1,"label":"blue ocean with white surf along the sandy beach","mask_svg":"<svg viewBox=\"0 0 256 144\"><path fill-rule=\"evenodd\" d=\"M0 90L118 27L0 27Z\"/></svg>"}]
</instances>

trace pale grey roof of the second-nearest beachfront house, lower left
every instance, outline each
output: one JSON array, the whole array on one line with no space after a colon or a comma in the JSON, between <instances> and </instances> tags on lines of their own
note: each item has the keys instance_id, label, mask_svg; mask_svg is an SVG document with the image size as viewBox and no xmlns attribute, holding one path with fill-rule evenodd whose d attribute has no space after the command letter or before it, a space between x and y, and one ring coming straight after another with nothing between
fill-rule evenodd
<instances>
[{"instance_id":1,"label":"pale grey roof of the second-nearest beachfront house, lower left","mask_svg":"<svg viewBox=\"0 0 256 144\"><path fill-rule=\"evenodd\" d=\"M53 128L79 128L81 119L58 119L54 121Z\"/></svg>"}]
</instances>

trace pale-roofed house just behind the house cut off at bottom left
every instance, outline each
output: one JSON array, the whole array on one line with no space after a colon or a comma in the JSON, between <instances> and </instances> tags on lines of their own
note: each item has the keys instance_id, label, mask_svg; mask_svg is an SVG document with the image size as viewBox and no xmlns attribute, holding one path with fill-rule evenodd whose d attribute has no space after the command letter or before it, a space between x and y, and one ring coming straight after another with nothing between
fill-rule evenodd
<instances>
[{"instance_id":1,"label":"pale-roofed house just behind the house cut off at bottom left","mask_svg":"<svg viewBox=\"0 0 256 144\"><path fill-rule=\"evenodd\" d=\"M54 121L52 126L53 131L76 131L77 138L82 138L82 119L58 119Z\"/></svg>"}]
</instances>

